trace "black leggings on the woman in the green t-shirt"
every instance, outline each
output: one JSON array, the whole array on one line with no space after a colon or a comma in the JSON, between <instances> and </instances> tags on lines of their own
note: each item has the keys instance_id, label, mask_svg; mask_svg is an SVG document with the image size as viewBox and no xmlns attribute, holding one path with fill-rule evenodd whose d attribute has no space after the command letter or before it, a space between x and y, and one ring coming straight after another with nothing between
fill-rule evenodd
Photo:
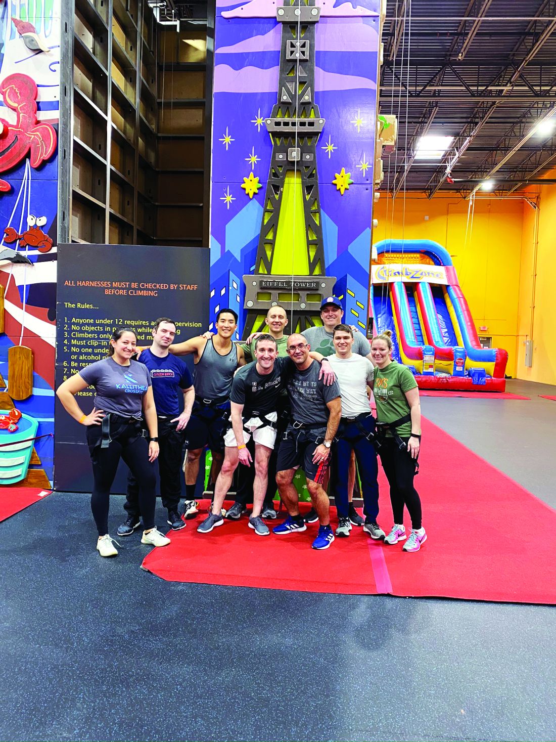
<instances>
[{"instance_id":1,"label":"black leggings on the woman in the green t-shirt","mask_svg":"<svg viewBox=\"0 0 556 742\"><path fill-rule=\"evenodd\" d=\"M408 438L402 439L405 443ZM403 506L411 517L411 527L421 528L421 501L413 486L415 462L406 451L400 451L393 438L384 438L379 449L380 461L390 485L390 502L394 523L403 523Z\"/></svg>"}]
</instances>

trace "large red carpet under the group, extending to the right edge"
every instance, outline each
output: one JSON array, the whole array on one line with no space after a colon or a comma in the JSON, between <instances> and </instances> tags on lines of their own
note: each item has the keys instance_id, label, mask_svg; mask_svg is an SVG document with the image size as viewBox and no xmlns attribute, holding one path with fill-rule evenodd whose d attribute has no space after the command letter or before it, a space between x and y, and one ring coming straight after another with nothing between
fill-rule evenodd
<instances>
[{"instance_id":1,"label":"large red carpet under the group, extending to the right edge","mask_svg":"<svg viewBox=\"0 0 556 742\"><path fill-rule=\"evenodd\" d=\"M262 538L245 516L201 535L202 515L170 533L171 545L153 549L143 567L176 582L555 604L556 511L428 420L423 443L416 485L428 540L417 554L373 542L355 527L348 539L314 551L317 524ZM382 472L380 490L379 522L389 529Z\"/></svg>"}]
</instances>

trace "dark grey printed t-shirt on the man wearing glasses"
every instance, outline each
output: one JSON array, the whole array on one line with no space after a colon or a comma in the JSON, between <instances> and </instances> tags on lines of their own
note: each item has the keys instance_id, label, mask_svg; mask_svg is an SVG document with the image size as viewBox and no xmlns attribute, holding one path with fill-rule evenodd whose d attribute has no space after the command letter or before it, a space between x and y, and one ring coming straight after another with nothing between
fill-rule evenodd
<instances>
[{"instance_id":1,"label":"dark grey printed t-shirt on the man wearing glasses","mask_svg":"<svg viewBox=\"0 0 556 742\"><path fill-rule=\"evenodd\" d=\"M327 385L320 375L320 363L312 364L300 371L298 368L288 378L288 396L291 402L291 418L305 425L328 424L328 407L326 404L340 396L338 382Z\"/></svg>"}]
</instances>

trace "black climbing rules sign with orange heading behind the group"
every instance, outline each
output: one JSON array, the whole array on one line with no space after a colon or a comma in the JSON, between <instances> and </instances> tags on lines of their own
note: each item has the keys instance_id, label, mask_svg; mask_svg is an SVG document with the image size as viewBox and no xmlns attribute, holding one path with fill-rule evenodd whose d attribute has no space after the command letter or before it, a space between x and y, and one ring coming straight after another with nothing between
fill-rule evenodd
<instances>
[{"instance_id":1,"label":"black climbing rules sign with orange heading behind the group","mask_svg":"<svg viewBox=\"0 0 556 742\"><path fill-rule=\"evenodd\" d=\"M159 317L176 322L176 342L208 327L209 251L199 247L149 245L58 246L56 388L85 366L106 358L110 336L131 327L137 342L150 346ZM77 395L85 413L94 390ZM112 491L125 492L127 469L120 464ZM54 487L90 492L93 473L85 427L56 399Z\"/></svg>"}]
</instances>

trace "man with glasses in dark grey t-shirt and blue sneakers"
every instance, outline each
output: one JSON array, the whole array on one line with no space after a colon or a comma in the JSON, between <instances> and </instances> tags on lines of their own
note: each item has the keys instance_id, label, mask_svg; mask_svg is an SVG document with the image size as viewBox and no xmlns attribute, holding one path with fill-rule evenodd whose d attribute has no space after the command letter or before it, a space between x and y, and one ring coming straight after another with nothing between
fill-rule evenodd
<instances>
[{"instance_id":1,"label":"man with glasses in dark grey t-shirt and blue sneakers","mask_svg":"<svg viewBox=\"0 0 556 742\"><path fill-rule=\"evenodd\" d=\"M289 516L274 528L274 533L283 535L307 528L299 514L299 496L293 484L295 472L302 466L320 522L313 548L326 549L334 541L334 534L330 527L328 495L322 482L328 470L330 448L340 423L342 404L337 381L326 386L319 379L320 367L310 357L310 351L303 335L294 333L289 336L288 355L295 364L287 386L292 418L279 447L276 476L280 497Z\"/></svg>"}]
</instances>

